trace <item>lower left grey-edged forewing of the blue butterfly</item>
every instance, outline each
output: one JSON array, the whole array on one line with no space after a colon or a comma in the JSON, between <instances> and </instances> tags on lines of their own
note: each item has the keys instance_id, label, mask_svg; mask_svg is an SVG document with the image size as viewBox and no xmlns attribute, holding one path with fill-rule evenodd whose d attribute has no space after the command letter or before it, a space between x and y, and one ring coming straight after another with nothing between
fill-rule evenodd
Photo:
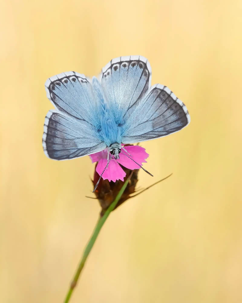
<instances>
[{"instance_id":1,"label":"lower left grey-edged forewing of the blue butterfly","mask_svg":"<svg viewBox=\"0 0 242 303\"><path fill-rule=\"evenodd\" d=\"M106 148L88 122L52 110L45 117L42 143L45 154L56 160L78 158Z\"/></svg>"}]
</instances>

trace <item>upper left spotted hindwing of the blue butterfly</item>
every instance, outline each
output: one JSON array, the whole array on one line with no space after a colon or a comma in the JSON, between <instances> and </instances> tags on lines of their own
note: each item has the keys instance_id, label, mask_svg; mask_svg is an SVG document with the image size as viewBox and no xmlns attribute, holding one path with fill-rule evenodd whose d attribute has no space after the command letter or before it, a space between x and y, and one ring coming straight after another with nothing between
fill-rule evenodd
<instances>
[{"instance_id":1,"label":"upper left spotted hindwing of the blue butterfly","mask_svg":"<svg viewBox=\"0 0 242 303\"><path fill-rule=\"evenodd\" d=\"M60 112L92 122L92 85L85 75L65 72L45 82L47 97Z\"/></svg>"}]
</instances>

